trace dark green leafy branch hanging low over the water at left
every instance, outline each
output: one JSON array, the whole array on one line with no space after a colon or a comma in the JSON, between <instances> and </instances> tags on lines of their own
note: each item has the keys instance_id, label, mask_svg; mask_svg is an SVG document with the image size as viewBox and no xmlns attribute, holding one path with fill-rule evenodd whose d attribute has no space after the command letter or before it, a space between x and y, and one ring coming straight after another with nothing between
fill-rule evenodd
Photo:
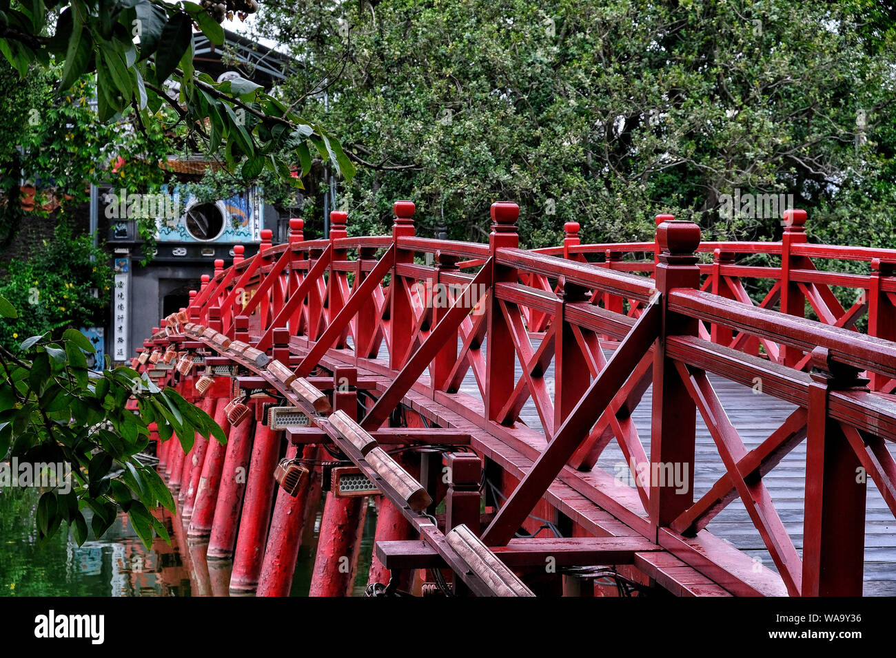
<instances>
[{"instance_id":1,"label":"dark green leafy branch hanging low over the water at left","mask_svg":"<svg viewBox=\"0 0 896 658\"><path fill-rule=\"evenodd\" d=\"M0 317L14 319L13 305L0 297ZM162 440L177 435L186 451L198 433L226 441L224 432L202 409L173 388L159 389L145 374L120 366L102 372L87 368L93 346L80 331L66 329L22 341L13 352L0 347L0 460L64 463L71 466L71 491L45 491L36 521L41 538L52 537L65 521L80 545L88 537L82 513L90 508L90 529L106 532L118 510L149 545L155 532L168 541L165 526L150 510L175 502L155 468L142 457L149 425ZM137 413L125 403L134 397Z\"/></svg>"}]
</instances>

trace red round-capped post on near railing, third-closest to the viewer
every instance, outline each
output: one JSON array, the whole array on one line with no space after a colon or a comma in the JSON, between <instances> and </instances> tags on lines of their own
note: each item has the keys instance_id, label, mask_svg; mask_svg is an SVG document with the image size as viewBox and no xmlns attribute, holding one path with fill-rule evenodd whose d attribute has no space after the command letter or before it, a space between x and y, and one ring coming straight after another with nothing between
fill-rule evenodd
<instances>
[{"instance_id":1,"label":"red round-capped post on near railing, third-closest to the viewer","mask_svg":"<svg viewBox=\"0 0 896 658\"><path fill-rule=\"evenodd\" d=\"M414 235L414 204L411 201L395 201L392 212L395 221L392 224L392 243L395 245L395 265L389 287L389 367L401 370L404 357L408 354L410 339L414 328L414 312L411 308L410 295L404 278L399 276L398 269L404 263L414 262L414 253L405 252L398 247L401 237Z\"/></svg>"}]
</instances>

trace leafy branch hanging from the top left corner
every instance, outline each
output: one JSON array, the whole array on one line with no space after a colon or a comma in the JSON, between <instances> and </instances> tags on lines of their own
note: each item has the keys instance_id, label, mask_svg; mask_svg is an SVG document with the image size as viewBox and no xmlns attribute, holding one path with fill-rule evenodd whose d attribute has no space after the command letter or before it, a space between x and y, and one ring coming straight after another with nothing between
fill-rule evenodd
<instances>
[{"instance_id":1,"label":"leafy branch hanging from the top left corner","mask_svg":"<svg viewBox=\"0 0 896 658\"><path fill-rule=\"evenodd\" d=\"M47 36L53 19L54 33ZM252 81L216 82L194 71L194 23L212 42L223 42L220 24L192 2L0 0L0 51L22 77L32 63L60 64L62 93L84 73L95 73L102 122L133 109L148 125L168 105L191 139L211 153L223 152L230 170L239 168L246 178L267 170L300 186L282 156L288 149L301 162L315 150L350 180L354 166L323 127L309 124ZM168 90L175 90L173 98Z\"/></svg>"}]
</instances>

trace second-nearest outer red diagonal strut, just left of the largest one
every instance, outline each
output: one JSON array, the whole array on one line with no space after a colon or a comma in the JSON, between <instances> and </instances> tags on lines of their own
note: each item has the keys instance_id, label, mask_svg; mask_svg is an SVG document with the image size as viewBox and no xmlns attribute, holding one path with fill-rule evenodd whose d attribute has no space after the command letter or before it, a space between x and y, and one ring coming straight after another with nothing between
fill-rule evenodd
<instances>
[{"instance_id":1,"label":"second-nearest outer red diagonal strut, just left of the largest one","mask_svg":"<svg viewBox=\"0 0 896 658\"><path fill-rule=\"evenodd\" d=\"M489 259L490 260L490 259ZM408 363L401 368L389 388L383 392L383 395L376 400L373 408L367 412L361 426L368 432L376 430L385 420L392 414L392 409L401 402L401 398L405 396L418 377L426 370L426 366L435 358L439 350L444 346L446 338L452 335L454 329L461 324L464 318L470 313L473 306L476 305L477 299L474 299L474 291L481 287L491 286L492 267L491 263L479 270L476 277L470 281L470 284L464 288L461 295L454 302L451 309L444 314L442 320L435 325L435 329L429 332L429 336L418 347L417 352L410 357Z\"/></svg>"}]
</instances>

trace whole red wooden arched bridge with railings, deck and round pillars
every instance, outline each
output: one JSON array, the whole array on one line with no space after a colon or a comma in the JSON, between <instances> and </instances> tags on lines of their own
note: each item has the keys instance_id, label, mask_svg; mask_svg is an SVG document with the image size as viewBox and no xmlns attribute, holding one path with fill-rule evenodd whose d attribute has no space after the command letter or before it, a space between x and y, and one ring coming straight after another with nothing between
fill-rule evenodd
<instances>
[{"instance_id":1,"label":"whole red wooden arched bridge with railings, deck and round pillars","mask_svg":"<svg viewBox=\"0 0 896 658\"><path fill-rule=\"evenodd\" d=\"M349 594L368 497L372 595L896 592L896 250L810 244L802 210L780 242L660 215L528 251L513 203L488 244L393 210L237 246L138 350L228 433L159 441L233 560L207 593L289 594L323 494L312 595Z\"/></svg>"}]
</instances>

